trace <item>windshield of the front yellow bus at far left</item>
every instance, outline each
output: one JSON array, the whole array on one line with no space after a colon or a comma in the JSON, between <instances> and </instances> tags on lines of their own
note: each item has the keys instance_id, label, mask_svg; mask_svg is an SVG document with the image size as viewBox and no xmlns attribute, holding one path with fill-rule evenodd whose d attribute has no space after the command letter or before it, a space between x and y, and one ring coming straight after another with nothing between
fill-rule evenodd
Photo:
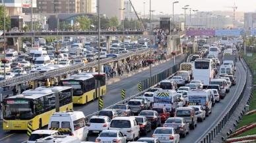
<instances>
[{"instance_id":1,"label":"windshield of the front yellow bus at far left","mask_svg":"<svg viewBox=\"0 0 256 143\"><path fill-rule=\"evenodd\" d=\"M4 102L4 119L31 119L32 107L29 100L7 100Z\"/></svg>"}]
</instances>

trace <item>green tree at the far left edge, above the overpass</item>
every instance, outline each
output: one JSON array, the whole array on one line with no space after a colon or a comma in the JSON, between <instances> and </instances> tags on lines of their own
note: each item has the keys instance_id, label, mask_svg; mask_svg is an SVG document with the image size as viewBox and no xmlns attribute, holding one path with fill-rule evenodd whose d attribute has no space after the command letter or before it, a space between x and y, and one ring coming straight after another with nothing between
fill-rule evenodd
<instances>
[{"instance_id":1,"label":"green tree at the far left edge, above the overpass","mask_svg":"<svg viewBox=\"0 0 256 143\"><path fill-rule=\"evenodd\" d=\"M5 9L5 6L0 5L0 30L4 30L4 27L3 27L4 26L4 18L5 18L5 28L6 28L6 30L7 31L11 30L11 17L7 14L8 13Z\"/></svg>"}]
</instances>

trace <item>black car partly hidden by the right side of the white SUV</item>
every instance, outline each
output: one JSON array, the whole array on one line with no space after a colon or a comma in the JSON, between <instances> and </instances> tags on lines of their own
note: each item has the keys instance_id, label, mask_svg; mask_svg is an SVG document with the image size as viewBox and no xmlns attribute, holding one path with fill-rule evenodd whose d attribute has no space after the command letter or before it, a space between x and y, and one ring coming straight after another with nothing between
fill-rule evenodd
<instances>
[{"instance_id":1,"label":"black car partly hidden by the right side of the white SUV","mask_svg":"<svg viewBox=\"0 0 256 143\"><path fill-rule=\"evenodd\" d=\"M142 134L146 135L146 132L151 131L151 123L150 121L148 121L148 119L146 119L146 117L143 117L143 116L133 116L133 117L135 117L139 122L140 132Z\"/></svg>"}]
</instances>

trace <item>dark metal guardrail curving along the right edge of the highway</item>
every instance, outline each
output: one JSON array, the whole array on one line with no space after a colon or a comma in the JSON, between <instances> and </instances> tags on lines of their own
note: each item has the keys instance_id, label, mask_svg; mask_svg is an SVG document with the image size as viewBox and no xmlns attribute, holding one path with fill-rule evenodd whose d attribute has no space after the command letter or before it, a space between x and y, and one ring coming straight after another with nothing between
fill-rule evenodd
<instances>
[{"instance_id":1,"label":"dark metal guardrail curving along the right edge of the highway","mask_svg":"<svg viewBox=\"0 0 256 143\"><path fill-rule=\"evenodd\" d=\"M245 67L243 61L241 61L241 63L247 74L248 73L247 68ZM236 108L239 106L240 101L243 98L243 93L245 92L245 89L246 89L246 86L245 86L246 84L247 84L247 78L245 79L245 83L243 84L243 90L241 90L240 96L238 96L238 98L233 103L233 105L230 106L230 109L226 111L222 119L215 121L214 127L212 127L212 129L209 130L202 138L199 138L198 140L196 140L196 142L208 143L211 140L213 140L216 137L216 135L218 135L218 133L222 130L222 128L226 125L226 123L228 123L228 120L230 119L234 111L236 111Z\"/></svg>"}]
</instances>

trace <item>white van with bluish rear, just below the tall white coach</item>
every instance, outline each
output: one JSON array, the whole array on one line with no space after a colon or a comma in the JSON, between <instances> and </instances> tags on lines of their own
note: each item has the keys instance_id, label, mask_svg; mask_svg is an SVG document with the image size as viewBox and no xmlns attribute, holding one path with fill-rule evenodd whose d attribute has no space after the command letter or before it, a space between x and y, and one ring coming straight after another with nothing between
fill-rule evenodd
<instances>
[{"instance_id":1,"label":"white van with bluish rear, just below the tall white coach","mask_svg":"<svg viewBox=\"0 0 256 143\"><path fill-rule=\"evenodd\" d=\"M208 116L212 113L212 99L214 95L211 90L191 90L187 92L189 105L201 105Z\"/></svg>"}]
</instances>

